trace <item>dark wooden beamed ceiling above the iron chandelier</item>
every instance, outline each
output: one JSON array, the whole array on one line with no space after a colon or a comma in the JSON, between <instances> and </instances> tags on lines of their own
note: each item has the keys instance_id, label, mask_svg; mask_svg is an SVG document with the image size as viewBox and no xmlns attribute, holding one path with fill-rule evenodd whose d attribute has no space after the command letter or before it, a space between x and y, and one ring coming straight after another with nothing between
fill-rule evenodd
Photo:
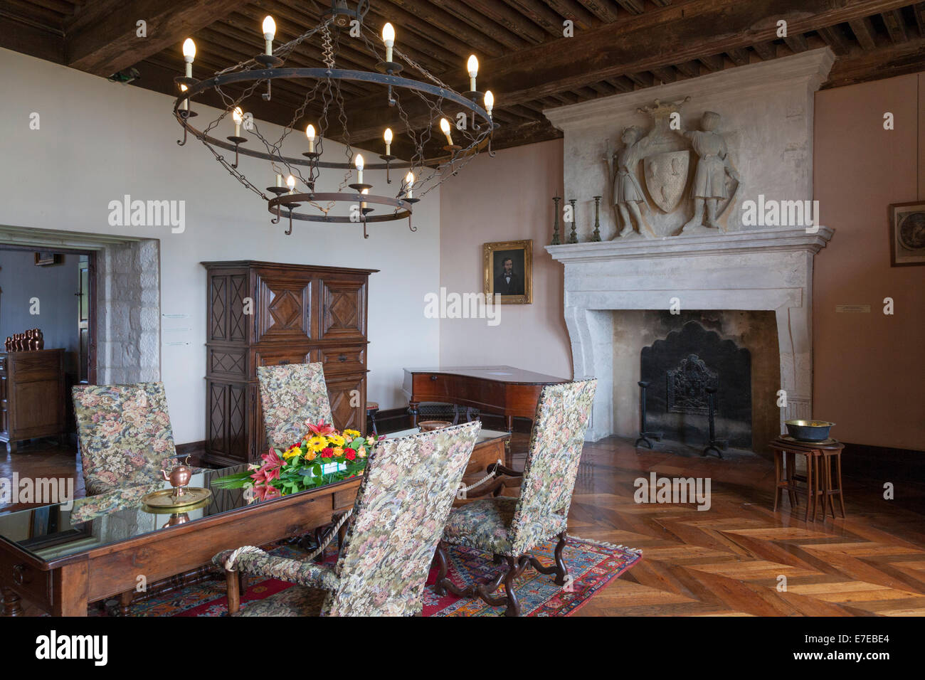
<instances>
[{"instance_id":1,"label":"dark wooden beamed ceiling above the iron chandelier","mask_svg":"<svg viewBox=\"0 0 925 680\"><path fill-rule=\"evenodd\" d=\"M277 21L277 43L285 42L313 27L328 1L4 0L0 46L100 76L136 68L134 85L175 94L183 39L195 40L196 75L203 77L261 51L266 14ZM136 36L140 19L147 23L143 39ZM563 37L566 19L573 37ZM777 35L781 19L786 37ZM466 58L479 57L479 86L498 102L495 148L560 136L542 114L549 107L825 45L837 58L823 87L925 69L925 2L907 0L371 0L366 23L378 32L386 21L402 52L460 91L468 89ZM340 67L371 70L374 63L361 43L340 37ZM288 60L321 64L318 39ZM351 143L376 148L387 126L402 129L375 85L344 83L342 93ZM251 108L257 118L288 124L304 95L301 82L275 82L273 101ZM421 102L407 96L402 104L413 127L426 124ZM400 140L395 152L409 153Z\"/></svg>"}]
</instances>

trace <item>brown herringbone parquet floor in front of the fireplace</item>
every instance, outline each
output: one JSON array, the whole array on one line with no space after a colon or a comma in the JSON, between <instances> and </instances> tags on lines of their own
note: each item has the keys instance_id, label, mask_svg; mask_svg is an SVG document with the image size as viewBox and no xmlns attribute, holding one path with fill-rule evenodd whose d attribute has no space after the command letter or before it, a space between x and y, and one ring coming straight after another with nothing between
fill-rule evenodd
<instances>
[{"instance_id":1,"label":"brown herringbone parquet floor in front of the fireplace","mask_svg":"<svg viewBox=\"0 0 925 680\"><path fill-rule=\"evenodd\" d=\"M850 461L844 467L850 472ZM711 507L636 503L634 480L653 471L709 477ZM623 439L587 444L569 533L639 548L643 559L577 615L925 615L921 485L897 483L897 501L886 501L882 480L846 478L847 518L805 523L802 504L791 513L783 501L771 512L773 476L759 456L705 459L636 450Z\"/></svg>"}]
</instances>

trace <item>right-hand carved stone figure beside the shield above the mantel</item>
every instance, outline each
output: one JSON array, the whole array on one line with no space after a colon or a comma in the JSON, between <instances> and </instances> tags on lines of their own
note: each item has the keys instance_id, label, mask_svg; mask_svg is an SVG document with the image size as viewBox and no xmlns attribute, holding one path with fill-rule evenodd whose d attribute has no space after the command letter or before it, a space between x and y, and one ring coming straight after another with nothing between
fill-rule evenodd
<instances>
[{"instance_id":1,"label":"right-hand carved stone figure beside the shield above the mantel","mask_svg":"<svg viewBox=\"0 0 925 680\"><path fill-rule=\"evenodd\" d=\"M694 216L685 224L685 230L696 229L700 225L720 229L720 224L716 221L717 208L722 200L729 198L726 175L736 181L739 179L738 174L730 165L726 141L722 134L716 131L720 120L720 114L706 111L700 120L702 130L691 130L684 133L699 158L691 187ZM704 221L705 208L706 221Z\"/></svg>"}]
</instances>

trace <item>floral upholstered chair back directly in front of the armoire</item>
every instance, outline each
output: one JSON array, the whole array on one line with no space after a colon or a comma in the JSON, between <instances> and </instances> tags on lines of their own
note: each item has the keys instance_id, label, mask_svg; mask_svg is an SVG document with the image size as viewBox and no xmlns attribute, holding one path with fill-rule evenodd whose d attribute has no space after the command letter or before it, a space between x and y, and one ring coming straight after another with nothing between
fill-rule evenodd
<instances>
[{"instance_id":1,"label":"floral upholstered chair back directly in front of the armoire","mask_svg":"<svg viewBox=\"0 0 925 680\"><path fill-rule=\"evenodd\" d=\"M321 364L258 366L266 443L286 449L302 439L305 421L331 422L331 404Z\"/></svg>"}]
</instances>

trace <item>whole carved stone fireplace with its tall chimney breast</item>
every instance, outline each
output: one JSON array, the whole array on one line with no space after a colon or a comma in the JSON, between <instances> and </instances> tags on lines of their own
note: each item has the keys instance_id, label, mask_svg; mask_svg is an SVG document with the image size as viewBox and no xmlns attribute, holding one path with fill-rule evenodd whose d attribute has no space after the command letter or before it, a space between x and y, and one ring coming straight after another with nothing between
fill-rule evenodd
<instances>
[{"instance_id":1,"label":"whole carved stone fireplace with its tall chimney breast","mask_svg":"<svg viewBox=\"0 0 925 680\"><path fill-rule=\"evenodd\" d=\"M621 333L646 332L645 315L622 315L632 310L772 314L780 374L776 386L771 378L762 382L752 401L767 402L773 387L776 409L784 390L778 432L784 420L811 415L812 265L833 229L820 225L818 214L815 225L777 227L752 226L743 215L746 202L758 202L759 195L761 201L811 201L813 93L832 62L830 50L814 50L545 112L565 133L564 198L577 199L584 241L547 251L565 267L574 376L598 378L587 439L638 432L639 347L624 356L615 341ZM709 111L722 116L718 132L706 123ZM675 112L679 128L666 122ZM635 133L622 135L631 126ZM646 128L648 142L635 147L639 153L624 153ZM697 139L685 130L703 130L709 148L684 142ZM614 147L611 173L607 156ZM679 172L683 191L670 186L669 175ZM721 179L726 185L717 188ZM707 196L706 211L697 205L698 193ZM589 242L594 196L604 197L601 242ZM616 209L621 202L630 208L625 214ZM642 208L642 224L634 203ZM707 226L714 212L719 229Z\"/></svg>"}]
</instances>

